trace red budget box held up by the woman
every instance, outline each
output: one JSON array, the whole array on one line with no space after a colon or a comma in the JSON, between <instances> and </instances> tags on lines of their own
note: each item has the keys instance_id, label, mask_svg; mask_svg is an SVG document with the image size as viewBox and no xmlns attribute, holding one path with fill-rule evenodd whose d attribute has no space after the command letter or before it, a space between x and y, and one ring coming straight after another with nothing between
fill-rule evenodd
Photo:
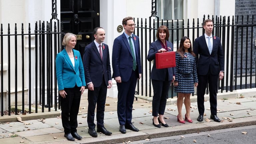
<instances>
[{"instance_id":1,"label":"red budget box held up by the woman","mask_svg":"<svg viewBox=\"0 0 256 144\"><path fill-rule=\"evenodd\" d=\"M156 53L156 69L176 67L175 52Z\"/></svg>"}]
</instances>

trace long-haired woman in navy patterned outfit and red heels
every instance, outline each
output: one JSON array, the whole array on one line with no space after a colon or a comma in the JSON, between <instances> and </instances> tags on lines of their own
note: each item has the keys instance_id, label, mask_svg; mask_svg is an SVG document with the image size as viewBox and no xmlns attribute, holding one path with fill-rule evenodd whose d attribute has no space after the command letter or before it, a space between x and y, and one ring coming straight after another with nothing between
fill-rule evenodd
<instances>
[{"instance_id":1,"label":"long-haired woman in navy patterned outfit and red heels","mask_svg":"<svg viewBox=\"0 0 256 144\"><path fill-rule=\"evenodd\" d=\"M185 120L189 123L193 122L190 118L190 94L194 93L194 86L197 87L198 85L195 56L190 39L184 36L181 38L179 49L175 53L174 91L178 93L177 108L179 114L177 115L177 121L180 123L185 123L181 114L183 98L186 108Z\"/></svg>"}]
</instances>

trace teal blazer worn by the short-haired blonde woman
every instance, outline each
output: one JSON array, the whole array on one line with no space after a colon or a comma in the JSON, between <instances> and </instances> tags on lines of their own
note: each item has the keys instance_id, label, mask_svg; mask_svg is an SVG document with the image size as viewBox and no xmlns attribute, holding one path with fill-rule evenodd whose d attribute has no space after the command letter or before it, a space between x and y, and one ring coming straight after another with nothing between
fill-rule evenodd
<instances>
[{"instance_id":1,"label":"teal blazer worn by the short-haired blonde woman","mask_svg":"<svg viewBox=\"0 0 256 144\"><path fill-rule=\"evenodd\" d=\"M56 76L59 90L73 88L75 85L78 87L86 86L80 52L74 49L72 50L75 59L75 68L73 67L66 49L63 49L56 56Z\"/></svg>"}]
</instances>

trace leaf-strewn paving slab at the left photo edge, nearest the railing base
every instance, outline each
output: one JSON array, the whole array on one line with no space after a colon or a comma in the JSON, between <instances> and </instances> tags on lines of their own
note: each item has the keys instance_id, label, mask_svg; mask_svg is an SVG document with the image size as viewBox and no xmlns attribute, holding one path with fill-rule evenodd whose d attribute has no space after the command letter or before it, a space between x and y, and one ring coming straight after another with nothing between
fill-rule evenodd
<instances>
[{"instance_id":1,"label":"leaf-strewn paving slab at the left photo edge, nearest the railing base","mask_svg":"<svg viewBox=\"0 0 256 144\"><path fill-rule=\"evenodd\" d=\"M29 125L25 125L24 123L30 123ZM39 122L37 120L29 120L24 121L24 123L21 122L11 122L10 124L4 124L1 125L1 128L4 130L7 130L9 132L19 132L19 131L25 131L25 130L35 130L35 129L41 129L41 128L49 128L51 127L48 124ZM12 127L10 127L12 125ZM25 126L27 128L25 128Z\"/></svg>"}]
</instances>

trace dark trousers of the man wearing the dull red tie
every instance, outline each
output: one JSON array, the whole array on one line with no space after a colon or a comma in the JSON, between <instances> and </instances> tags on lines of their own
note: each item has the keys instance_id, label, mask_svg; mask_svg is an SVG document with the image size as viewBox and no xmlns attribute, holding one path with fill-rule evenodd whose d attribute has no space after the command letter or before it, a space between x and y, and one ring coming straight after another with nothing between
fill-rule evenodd
<instances>
[{"instance_id":1,"label":"dark trousers of the man wearing the dull red tie","mask_svg":"<svg viewBox=\"0 0 256 144\"><path fill-rule=\"evenodd\" d=\"M105 84L104 76L100 87L94 87L94 90L88 90L88 114L87 114L87 123L89 129L94 129L94 112L97 103L97 128L104 127L104 111L105 111L105 102L107 95L107 86Z\"/></svg>"}]
</instances>

